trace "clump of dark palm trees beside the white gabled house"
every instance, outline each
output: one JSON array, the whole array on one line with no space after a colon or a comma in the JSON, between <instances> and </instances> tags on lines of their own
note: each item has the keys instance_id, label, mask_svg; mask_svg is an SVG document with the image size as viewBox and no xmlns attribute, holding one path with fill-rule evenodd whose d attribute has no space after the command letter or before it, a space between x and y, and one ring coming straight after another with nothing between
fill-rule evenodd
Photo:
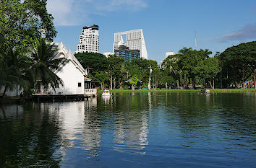
<instances>
[{"instance_id":1,"label":"clump of dark palm trees beside the white gabled house","mask_svg":"<svg viewBox=\"0 0 256 168\"><path fill-rule=\"evenodd\" d=\"M61 79L56 76L65 58L54 59L56 49L41 38L30 57L23 56L19 50L11 48L0 57L0 88L12 90L18 85L24 87L25 95L38 83L44 87L59 87ZM62 66L59 66L59 65Z\"/></svg>"}]
</instances>

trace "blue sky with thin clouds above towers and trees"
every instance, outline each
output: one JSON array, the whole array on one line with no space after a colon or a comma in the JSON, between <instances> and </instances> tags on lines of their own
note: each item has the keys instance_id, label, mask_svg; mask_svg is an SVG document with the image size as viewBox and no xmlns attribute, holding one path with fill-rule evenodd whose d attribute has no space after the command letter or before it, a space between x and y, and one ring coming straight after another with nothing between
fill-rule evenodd
<instances>
[{"instance_id":1,"label":"blue sky with thin clouds above towers and trees","mask_svg":"<svg viewBox=\"0 0 256 168\"><path fill-rule=\"evenodd\" d=\"M183 47L222 52L256 40L255 0L48 0L58 35L72 52L85 25L99 25L100 53L112 52L114 32L142 29L148 58Z\"/></svg>"}]
</instances>

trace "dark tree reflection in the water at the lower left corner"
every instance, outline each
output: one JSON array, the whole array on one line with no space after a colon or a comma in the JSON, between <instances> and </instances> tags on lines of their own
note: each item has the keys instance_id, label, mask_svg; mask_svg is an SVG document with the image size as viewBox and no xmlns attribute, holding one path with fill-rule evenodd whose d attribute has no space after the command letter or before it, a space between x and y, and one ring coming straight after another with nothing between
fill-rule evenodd
<instances>
[{"instance_id":1,"label":"dark tree reflection in the water at the lower left corner","mask_svg":"<svg viewBox=\"0 0 256 168\"><path fill-rule=\"evenodd\" d=\"M59 120L40 104L1 107L1 167L59 167Z\"/></svg>"}]
</instances>

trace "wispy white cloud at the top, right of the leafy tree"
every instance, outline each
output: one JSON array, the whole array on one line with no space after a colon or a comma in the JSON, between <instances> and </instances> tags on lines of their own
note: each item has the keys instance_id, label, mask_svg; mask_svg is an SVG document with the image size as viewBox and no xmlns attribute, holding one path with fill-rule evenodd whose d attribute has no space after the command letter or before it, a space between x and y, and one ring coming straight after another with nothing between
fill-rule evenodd
<instances>
[{"instance_id":1,"label":"wispy white cloud at the top, right of the leafy tree","mask_svg":"<svg viewBox=\"0 0 256 168\"><path fill-rule=\"evenodd\" d=\"M147 0L48 0L48 12L54 23L61 26L90 22L92 14L104 15L113 11L137 11L147 7Z\"/></svg>"}]
</instances>

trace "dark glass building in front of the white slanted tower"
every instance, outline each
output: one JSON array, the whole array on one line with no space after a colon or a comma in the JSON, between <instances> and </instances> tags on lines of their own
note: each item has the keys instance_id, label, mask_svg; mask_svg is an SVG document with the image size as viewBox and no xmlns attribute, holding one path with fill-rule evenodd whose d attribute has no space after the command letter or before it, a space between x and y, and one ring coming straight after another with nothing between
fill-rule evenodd
<instances>
[{"instance_id":1,"label":"dark glass building in front of the white slanted tower","mask_svg":"<svg viewBox=\"0 0 256 168\"><path fill-rule=\"evenodd\" d=\"M129 50L129 47L120 45L119 49L115 50L115 55L124 58L124 61L132 58L140 58L140 50Z\"/></svg>"}]
</instances>

